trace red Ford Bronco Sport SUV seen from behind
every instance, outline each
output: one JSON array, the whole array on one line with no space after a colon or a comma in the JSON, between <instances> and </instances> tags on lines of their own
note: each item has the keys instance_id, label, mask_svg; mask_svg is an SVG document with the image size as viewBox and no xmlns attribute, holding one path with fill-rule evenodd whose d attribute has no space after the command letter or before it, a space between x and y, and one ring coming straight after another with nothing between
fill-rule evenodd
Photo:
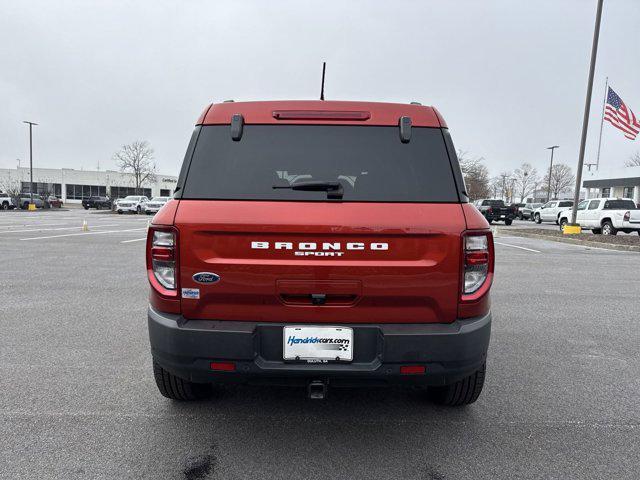
<instances>
[{"instance_id":1,"label":"red Ford Bronco Sport SUV seen from behind","mask_svg":"<svg viewBox=\"0 0 640 480\"><path fill-rule=\"evenodd\" d=\"M160 392L412 385L474 402L493 238L433 107L214 104L147 240Z\"/></svg>"}]
</instances>

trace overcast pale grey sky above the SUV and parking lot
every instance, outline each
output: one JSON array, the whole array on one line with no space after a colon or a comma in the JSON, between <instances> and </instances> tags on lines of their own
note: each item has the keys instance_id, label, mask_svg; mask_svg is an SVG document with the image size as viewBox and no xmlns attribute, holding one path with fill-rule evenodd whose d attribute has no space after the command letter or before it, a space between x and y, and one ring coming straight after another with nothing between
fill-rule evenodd
<instances>
[{"instance_id":1,"label":"overcast pale grey sky above the SUV and parking lot","mask_svg":"<svg viewBox=\"0 0 640 480\"><path fill-rule=\"evenodd\" d=\"M147 139L177 174L193 124L224 99L326 97L437 106L492 175L545 147L575 168L596 0L0 0L0 167L115 168ZM587 162L605 76L640 116L640 1L605 0ZM605 123L601 162L640 150Z\"/></svg>"}]
</instances>

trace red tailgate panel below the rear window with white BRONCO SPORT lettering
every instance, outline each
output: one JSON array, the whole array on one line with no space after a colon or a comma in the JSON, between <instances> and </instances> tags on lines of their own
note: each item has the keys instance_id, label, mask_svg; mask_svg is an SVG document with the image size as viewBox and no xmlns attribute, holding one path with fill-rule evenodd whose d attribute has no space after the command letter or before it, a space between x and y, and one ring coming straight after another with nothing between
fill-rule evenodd
<instances>
[{"instance_id":1,"label":"red tailgate panel below the rear window with white BRONCO SPORT lettering","mask_svg":"<svg viewBox=\"0 0 640 480\"><path fill-rule=\"evenodd\" d=\"M456 318L460 204L182 200L186 318L429 323ZM194 275L219 280L198 283Z\"/></svg>"}]
</instances>

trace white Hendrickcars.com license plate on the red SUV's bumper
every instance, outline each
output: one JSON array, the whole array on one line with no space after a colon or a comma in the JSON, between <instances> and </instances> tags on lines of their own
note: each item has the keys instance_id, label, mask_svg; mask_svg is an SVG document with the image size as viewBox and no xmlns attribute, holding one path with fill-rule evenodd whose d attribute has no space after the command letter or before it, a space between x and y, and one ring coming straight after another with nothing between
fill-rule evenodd
<instances>
[{"instance_id":1,"label":"white Hendrickcars.com license plate on the red SUV's bumper","mask_svg":"<svg viewBox=\"0 0 640 480\"><path fill-rule=\"evenodd\" d=\"M283 329L283 358L308 362L353 360L353 329L291 326Z\"/></svg>"}]
</instances>

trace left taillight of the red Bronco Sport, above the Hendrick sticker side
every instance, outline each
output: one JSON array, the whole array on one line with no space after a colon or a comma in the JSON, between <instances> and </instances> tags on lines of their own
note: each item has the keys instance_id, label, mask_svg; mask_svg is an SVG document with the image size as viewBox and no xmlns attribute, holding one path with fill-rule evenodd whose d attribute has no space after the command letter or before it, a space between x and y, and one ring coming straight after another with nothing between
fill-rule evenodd
<instances>
[{"instance_id":1,"label":"left taillight of the red Bronco Sport, above the Hendrick sticker side","mask_svg":"<svg viewBox=\"0 0 640 480\"><path fill-rule=\"evenodd\" d=\"M159 293L177 296L177 231L150 227L147 239L147 271L151 286Z\"/></svg>"}]
</instances>

